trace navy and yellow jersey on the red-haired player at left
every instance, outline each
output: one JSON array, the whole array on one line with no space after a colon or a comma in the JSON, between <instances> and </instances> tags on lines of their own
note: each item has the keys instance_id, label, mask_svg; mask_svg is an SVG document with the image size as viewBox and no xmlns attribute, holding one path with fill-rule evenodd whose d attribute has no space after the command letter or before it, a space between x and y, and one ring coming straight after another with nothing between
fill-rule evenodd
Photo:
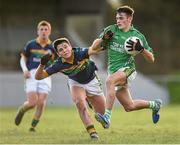
<instances>
[{"instance_id":1,"label":"navy and yellow jersey on the red-haired player at left","mask_svg":"<svg viewBox=\"0 0 180 145\"><path fill-rule=\"evenodd\" d=\"M27 42L22 54L27 58L26 65L28 70L36 69L41 61L41 57L47 53L54 54L54 48L51 41L41 44L39 38ZM49 61L47 66L52 62Z\"/></svg>"}]
</instances>

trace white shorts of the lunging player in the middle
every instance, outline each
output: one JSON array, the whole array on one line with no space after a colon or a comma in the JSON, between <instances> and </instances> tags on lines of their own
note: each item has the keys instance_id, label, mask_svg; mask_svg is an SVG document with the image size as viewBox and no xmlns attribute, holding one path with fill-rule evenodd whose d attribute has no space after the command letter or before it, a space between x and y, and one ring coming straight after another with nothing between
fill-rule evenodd
<instances>
[{"instance_id":1,"label":"white shorts of the lunging player in the middle","mask_svg":"<svg viewBox=\"0 0 180 145\"><path fill-rule=\"evenodd\" d=\"M97 76L87 84L81 84L81 83L78 83L77 81L74 81L72 79L68 79L68 84L69 84L70 88L72 86L78 86L78 87L84 88L86 91L86 95L89 97L91 97L91 96L104 96L104 93L103 93L102 87L101 87L102 86L101 82Z\"/></svg>"}]
</instances>

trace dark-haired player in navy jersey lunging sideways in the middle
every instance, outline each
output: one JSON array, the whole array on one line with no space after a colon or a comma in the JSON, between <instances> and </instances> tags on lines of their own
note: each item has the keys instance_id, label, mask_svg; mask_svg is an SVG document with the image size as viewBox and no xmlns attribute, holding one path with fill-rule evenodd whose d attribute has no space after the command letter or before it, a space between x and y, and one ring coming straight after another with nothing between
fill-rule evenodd
<instances>
[{"instance_id":1,"label":"dark-haired player in navy jersey lunging sideways in the middle","mask_svg":"<svg viewBox=\"0 0 180 145\"><path fill-rule=\"evenodd\" d=\"M51 55L42 57L35 75L38 80L57 72L68 76L72 99L91 139L98 139L98 134L88 113L86 99L95 112L100 114L105 112L105 97L96 74L97 67L89 59L90 55L97 53L96 48L100 47L96 43L98 42L94 42L89 48L72 48L67 38L55 40L53 46L59 58L51 67L44 69Z\"/></svg>"}]
</instances>

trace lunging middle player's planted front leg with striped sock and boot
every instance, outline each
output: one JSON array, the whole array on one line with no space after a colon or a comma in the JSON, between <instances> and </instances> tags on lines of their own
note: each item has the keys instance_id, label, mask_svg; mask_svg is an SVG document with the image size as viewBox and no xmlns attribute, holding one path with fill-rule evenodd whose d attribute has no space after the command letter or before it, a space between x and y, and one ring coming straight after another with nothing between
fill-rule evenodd
<instances>
[{"instance_id":1,"label":"lunging middle player's planted front leg with striped sock and boot","mask_svg":"<svg viewBox=\"0 0 180 145\"><path fill-rule=\"evenodd\" d=\"M98 139L96 129L93 125L93 122L88 113L88 108L86 105L86 92L83 88L78 86L71 87L71 94L73 101L76 104L79 116L86 127L87 132L89 133L91 139Z\"/></svg>"}]
</instances>

